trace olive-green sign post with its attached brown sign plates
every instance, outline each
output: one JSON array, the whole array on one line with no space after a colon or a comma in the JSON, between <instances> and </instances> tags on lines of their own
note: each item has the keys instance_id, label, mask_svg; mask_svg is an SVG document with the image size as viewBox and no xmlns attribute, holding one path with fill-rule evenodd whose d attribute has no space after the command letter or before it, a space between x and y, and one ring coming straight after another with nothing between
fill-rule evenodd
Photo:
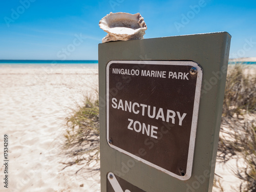
<instances>
[{"instance_id":1,"label":"olive-green sign post with its attached brown sign plates","mask_svg":"<svg viewBox=\"0 0 256 192\"><path fill-rule=\"evenodd\" d=\"M230 35L99 44L101 191L211 191Z\"/></svg>"}]
</instances>

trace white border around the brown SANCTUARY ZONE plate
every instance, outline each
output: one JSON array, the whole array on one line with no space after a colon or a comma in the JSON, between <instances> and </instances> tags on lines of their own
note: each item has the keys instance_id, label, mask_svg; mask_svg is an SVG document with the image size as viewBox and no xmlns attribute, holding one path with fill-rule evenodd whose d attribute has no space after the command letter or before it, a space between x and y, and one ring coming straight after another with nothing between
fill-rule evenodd
<instances>
[{"instance_id":1,"label":"white border around the brown SANCTUARY ZONE plate","mask_svg":"<svg viewBox=\"0 0 256 192\"><path fill-rule=\"evenodd\" d=\"M193 108L193 118L191 122L191 132L190 132L190 140L189 140L189 148L188 148L188 157L187 157L187 169L186 174L184 176L176 175L169 170L166 170L158 165L155 165L145 159L142 159L134 154L126 152L121 148L110 144L109 143L109 70L110 65L112 63L122 63L122 64L138 64L138 65L171 65L171 66L191 66L197 68L197 83L196 83L196 92L195 92L195 100L194 100L194 108ZM114 148L115 150L124 153L138 161L141 161L147 165L150 165L162 172L173 176L180 180L188 180L192 174L192 167L193 167L193 158L194 158L194 151L195 151L195 143L196 143L196 134L197 134L197 122L198 122L198 113L199 113L199 103L200 103L200 96L201 96L201 87L202 87L202 77L203 77L203 70L198 65L198 63L194 61L162 61L162 60L111 60L108 62L106 66L106 142L109 144L110 147Z\"/></svg>"}]
</instances>

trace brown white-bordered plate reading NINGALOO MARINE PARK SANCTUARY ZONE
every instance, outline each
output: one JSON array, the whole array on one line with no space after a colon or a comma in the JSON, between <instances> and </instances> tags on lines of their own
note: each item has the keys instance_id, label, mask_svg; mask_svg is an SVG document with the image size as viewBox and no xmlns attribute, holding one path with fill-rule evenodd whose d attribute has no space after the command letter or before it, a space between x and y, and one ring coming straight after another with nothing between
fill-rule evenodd
<instances>
[{"instance_id":1,"label":"brown white-bordered plate reading NINGALOO MARINE PARK SANCTUARY ZONE","mask_svg":"<svg viewBox=\"0 0 256 192\"><path fill-rule=\"evenodd\" d=\"M181 180L191 176L202 69L193 61L110 61L111 147Z\"/></svg>"}]
</instances>

